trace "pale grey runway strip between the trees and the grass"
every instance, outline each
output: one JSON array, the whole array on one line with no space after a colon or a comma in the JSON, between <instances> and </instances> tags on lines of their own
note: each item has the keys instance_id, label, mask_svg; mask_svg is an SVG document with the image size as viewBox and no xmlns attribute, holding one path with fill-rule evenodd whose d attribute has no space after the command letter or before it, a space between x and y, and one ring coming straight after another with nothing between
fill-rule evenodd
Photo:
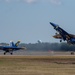
<instances>
[{"instance_id":1,"label":"pale grey runway strip between the trees and the grass","mask_svg":"<svg viewBox=\"0 0 75 75\"><path fill-rule=\"evenodd\" d=\"M4 55L4 51L0 51L0 56ZM7 53L5 56L12 56ZM13 56L72 56L71 52L55 52L55 51L31 51L31 50L18 50L13 52ZM74 56L74 55L73 55Z\"/></svg>"}]
</instances>

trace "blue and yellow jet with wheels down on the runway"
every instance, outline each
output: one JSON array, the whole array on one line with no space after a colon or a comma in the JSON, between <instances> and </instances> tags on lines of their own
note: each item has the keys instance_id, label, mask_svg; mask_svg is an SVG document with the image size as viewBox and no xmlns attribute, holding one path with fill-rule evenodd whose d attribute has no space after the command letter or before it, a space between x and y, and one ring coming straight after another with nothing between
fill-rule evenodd
<instances>
[{"instance_id":1,"label":"blue and yellow jet with wheels down on the runway","mask_svg":"<svg viewBox=\"0 0 75 75\"><path fill-rule=\"evenodd\" d=\"M20 49L25 49L23 47L18 47L20 41L17 41L16 43L14 43L13 41L10 41L10 45L9 46L0 46L0 50L5 51L4 55L9 52L11 55L13 54L13 51L17 51Z\"/></svg>"}]
</instances>

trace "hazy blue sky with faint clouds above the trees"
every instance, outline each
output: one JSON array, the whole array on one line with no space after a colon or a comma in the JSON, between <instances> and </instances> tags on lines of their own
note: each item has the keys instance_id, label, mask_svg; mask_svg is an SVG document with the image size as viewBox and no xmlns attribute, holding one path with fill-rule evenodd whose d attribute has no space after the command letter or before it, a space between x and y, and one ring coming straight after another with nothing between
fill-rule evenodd
<instances>
[{"instance_id":1,"label":"hazy blue sky with faint clouds above the trees","mask_svg":"<svg viewBox=\"0 0 75 75\"><path fill-rule=\"evenodd\" d=\"M49 22L75 34L75 0L0 0L0 42L59 42Z\"/></svg>"}]
</instances>

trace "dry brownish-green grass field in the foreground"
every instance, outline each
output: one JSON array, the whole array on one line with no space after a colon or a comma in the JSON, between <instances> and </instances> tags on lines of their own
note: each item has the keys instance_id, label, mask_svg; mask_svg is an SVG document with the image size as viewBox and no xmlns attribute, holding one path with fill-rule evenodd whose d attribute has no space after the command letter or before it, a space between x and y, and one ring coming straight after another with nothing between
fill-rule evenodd
<instances>
[{"instance_id":1,"label":"dry brownish-green grass field in the foreground","mask_svg":"<svg viewBox=\"0 0 75 75\"><path fill-rule=\"evenodd\" d=\"M0 75L75 75L75 56L0 56Z\"/></svg>"}]
</instances>

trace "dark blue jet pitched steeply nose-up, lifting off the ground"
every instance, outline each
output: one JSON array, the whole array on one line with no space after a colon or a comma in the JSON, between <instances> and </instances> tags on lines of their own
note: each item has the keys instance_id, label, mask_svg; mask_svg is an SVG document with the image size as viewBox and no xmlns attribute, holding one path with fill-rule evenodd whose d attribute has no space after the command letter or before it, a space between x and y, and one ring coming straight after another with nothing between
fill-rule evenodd
<instances>
[{"instance_id":1,"label":"dark blue jet pitched steeply nose-up, lifting off the ground","mask_svg":"<svg viewBox=\"0 0 75 75\"><path fill-rule=\"evenodd\" d=\"M56 39L60 39L60 42L62 40L67 41L69 44L75 44L75 35L67 33L65 30L63 30L61 27L59 27L57 24L54 24L50 22L50 24L54 27L54 29L58 32L53 37Z\"/></svg>"}]
</instances>

